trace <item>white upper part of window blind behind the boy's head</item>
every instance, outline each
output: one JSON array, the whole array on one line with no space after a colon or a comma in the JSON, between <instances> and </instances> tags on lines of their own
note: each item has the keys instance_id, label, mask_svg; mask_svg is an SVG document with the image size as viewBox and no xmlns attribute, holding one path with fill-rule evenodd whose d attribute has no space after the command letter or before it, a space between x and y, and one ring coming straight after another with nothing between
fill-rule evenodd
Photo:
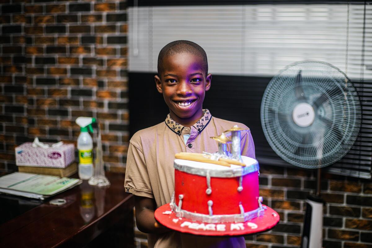
<instances>
[{"instance_id":1,"label":"white upper part of window blind behind the boy's head","mask_svg":"<svg viewBox=\"0 0 372 248\"><path fill-rule=\"evenodd\" d=\"M214 74L272 76L292 62L315 59L340 68L351 79L372 79L371 5L366 6L366 18L362 4L350 4L349 11L347 4L150 6L128 11L129 71L157 71L160 49L186 39L205 49Z\"/></svg>"}]
</instances>

